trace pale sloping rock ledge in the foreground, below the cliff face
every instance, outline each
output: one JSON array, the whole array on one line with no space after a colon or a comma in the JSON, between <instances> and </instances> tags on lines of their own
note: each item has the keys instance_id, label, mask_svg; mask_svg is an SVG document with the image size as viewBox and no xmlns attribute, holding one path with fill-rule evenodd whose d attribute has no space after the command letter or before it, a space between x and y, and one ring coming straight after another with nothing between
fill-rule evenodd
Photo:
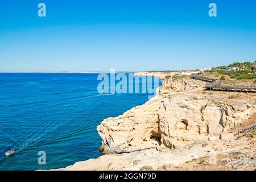
<instances>
[{"instance_id":1,"label":"pale sloping rock ledge in the foreground, below the cliff face","mask_svg":"<svg viewBox=\"0 0 256 182\"><path fill-rule=\"evenodd\" d=\"M236 139L196 142L177 150L150 149L103 155L57 170L254 170L255 139L241 136Z\"/></svg>"}]
</instances>

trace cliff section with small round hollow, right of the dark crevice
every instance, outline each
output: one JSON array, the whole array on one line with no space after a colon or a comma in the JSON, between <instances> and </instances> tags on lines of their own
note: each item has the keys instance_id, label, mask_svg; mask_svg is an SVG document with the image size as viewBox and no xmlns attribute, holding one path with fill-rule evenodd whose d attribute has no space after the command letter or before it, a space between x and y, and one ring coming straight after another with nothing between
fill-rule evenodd
<instances>
[{"instance_id":1,"label":"cliff section with small round hollow, right of the dark crevice","mask_svg":"<svg viewBox=\"0 0 256 182\"><path fill-rule=\"evenodd\" d=\"M253 100L230 101L220 93L172 93L162 97L159 108L161 143L182 148L198 140L219 139L255 111Z\"/></svg>"}]
</instances>

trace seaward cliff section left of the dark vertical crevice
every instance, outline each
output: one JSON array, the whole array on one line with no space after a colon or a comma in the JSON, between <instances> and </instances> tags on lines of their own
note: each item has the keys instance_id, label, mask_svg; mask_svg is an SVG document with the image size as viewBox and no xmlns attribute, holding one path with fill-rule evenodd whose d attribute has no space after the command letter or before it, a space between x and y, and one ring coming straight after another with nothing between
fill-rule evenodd
<instances>
[{"instance_id":1,"label":"seaward cliff section left of the dark vertical crevice","mask_svg":"<svg viewBox=\"0 0 256 182\"><path fill-rule=\"evenodd\" d=\"M107 118L97 127L105 154L141 151L158 145L159 99L152 98L116 118Z\"/></svg>"}]
</instances>

